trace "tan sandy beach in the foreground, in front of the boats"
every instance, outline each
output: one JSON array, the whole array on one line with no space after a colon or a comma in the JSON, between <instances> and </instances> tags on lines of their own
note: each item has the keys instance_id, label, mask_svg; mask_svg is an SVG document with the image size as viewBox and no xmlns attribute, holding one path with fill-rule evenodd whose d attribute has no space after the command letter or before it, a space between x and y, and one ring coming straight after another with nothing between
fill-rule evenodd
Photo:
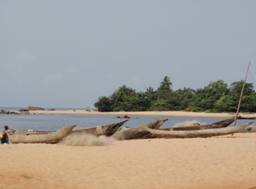
<instances>
[{"instance_id":1,"label":"tan sandy beach in the foreground, in front of the boats","mask_svg":"<svg viewBox=\"0 0 256 189\"><path fill-rule=\"evenodd\" d=\"M101 140L3 144L0 188L256 188L256 133Z\"/></svg>"}]
</instances>

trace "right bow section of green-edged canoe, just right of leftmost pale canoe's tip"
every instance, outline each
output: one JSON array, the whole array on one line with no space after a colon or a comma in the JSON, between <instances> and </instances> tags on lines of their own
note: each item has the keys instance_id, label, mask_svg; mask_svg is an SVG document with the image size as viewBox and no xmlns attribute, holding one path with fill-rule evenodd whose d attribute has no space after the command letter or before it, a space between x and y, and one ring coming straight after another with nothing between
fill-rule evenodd
<instances>
[{"instance_id":1,"label":"right bow section of green-edged canoe, just right of leftmost pale canoe's tip","mask_svg":"<svg viewBox=\"0 0 256 189\"><path fill-rule=\"evenodd\" d=\"M72 131L72 133L90 133L94 136L112 136L123 124L128 120L123 120L114 124L106 124L102 126L97 126L93 128L78 128L77 130Z\"/></svg>"}]
</instances>

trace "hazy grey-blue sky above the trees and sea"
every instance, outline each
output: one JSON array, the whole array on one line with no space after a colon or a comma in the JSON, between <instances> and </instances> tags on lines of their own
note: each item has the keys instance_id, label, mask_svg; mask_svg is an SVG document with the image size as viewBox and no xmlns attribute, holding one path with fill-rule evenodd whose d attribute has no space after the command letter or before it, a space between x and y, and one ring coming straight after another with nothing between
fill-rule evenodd
<instances>
[{"instance_id":1,"label":"hazy grey-blue sky above the trees and sea","mask_svg":"<svg viewBox=\"0 0 256 189\"><path fill-rule=\"evenodd\" d=\"M256 86L256 1L1 0L0 107L94 108L126 85Z\"/></svg>"}]
</instances>

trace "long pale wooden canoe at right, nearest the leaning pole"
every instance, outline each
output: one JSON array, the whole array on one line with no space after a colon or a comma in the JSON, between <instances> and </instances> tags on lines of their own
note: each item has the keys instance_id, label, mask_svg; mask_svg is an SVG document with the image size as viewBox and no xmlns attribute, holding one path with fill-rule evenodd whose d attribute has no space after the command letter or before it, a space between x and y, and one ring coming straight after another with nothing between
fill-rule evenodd
<instances>
[{"instance_id":1,"label":"long pale wooden canoe at right, nearest the leaning pole","mask_svg":"<svg viewBox=\"0 0 256 189\"><path fill-rule=\"evenodd\" d=\"M210 128L210 129L202 129L202 130L194 130L194 131L160 131L156 129L143 128L147 132L150 132L151 136L156 138L206 138L211 136L223 136L230 135L236 132L241 132L245 128L247 128L250 124L254 122L250 122L247 124L241 124L238 126L232 126L228 128Z\"/></svg>"}]
</instances>

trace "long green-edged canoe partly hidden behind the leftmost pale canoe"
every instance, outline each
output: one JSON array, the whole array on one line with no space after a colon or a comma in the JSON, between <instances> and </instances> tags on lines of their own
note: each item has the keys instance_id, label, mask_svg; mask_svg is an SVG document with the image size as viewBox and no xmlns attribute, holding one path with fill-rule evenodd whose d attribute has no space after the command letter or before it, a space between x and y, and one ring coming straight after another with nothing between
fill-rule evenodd
<instances>
[{"instance_id":1,"label":"long green-edged canoe partly hidden behind the leftmost pale canoe","mask_svg":"<svg viewBox=\"0 0 256 189\"><path fill-rule=\"evenodd\" d=\"M117 132L118 129L121 128L122 125L126 123L126 121L128 121L128 120L123 120L118 123L106 124L106 125L92 127L92 128L77 128L77 129L74 129L71 133L86 132L86 133L93 134L95 136L101 136L101 135L111 136L114 134L114 132ZM55 131L35 131L35 130L31 130L31 129L22 130L22 129L15 129L15 128L10 128L10 130L18 131L19 133L26 134L26 135L42 135L42 134L48 134L51 132L55 132Z\"/></svg>"}]
</instances>

